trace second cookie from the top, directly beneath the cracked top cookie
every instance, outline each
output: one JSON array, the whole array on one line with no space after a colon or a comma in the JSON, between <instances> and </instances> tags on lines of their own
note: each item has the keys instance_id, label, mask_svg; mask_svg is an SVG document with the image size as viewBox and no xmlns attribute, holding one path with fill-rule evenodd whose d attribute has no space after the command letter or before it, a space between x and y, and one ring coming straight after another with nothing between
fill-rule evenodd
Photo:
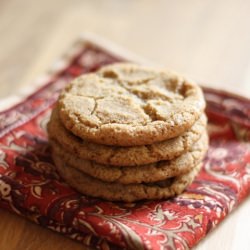
<instances>
[{"instance_id":1,"label":"second cookie from the top, directly beneath the cracked top cookie","mask_svg":"<svg viewBox=\"0 0 250 250\"><path fill-rule=\"evenodd\" d=\"M188 151L200 138L201 134L206 133L206 123L207 119L205 115L202 115L190 130L184 134L151 145L134 147L106 146L82 140L70 133L60 122L58 110L55 108L48 124L48 133L51 138L79 158L92 160L100 164L135 166L161 160L171 160Z\"/></svg>"}]
</instances>

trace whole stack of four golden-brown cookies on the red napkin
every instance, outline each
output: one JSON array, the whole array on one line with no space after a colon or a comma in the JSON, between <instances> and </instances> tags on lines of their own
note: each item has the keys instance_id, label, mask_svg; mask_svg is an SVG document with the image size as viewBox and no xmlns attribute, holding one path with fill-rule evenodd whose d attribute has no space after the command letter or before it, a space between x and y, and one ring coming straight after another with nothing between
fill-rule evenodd
<instances>
[{"instance_id":1,"label":"whole stack of four golden-brown cookies on the red napkin","mask_svg":"<svg viewBox=\"0 0 250 250\"><path fill-rule=\"evenodd\" d=\"M197 175L208 147L201 89L172 72L113 64L72 81L48 124L60 175L112 201L162 199Z\"/></svg>"}]
</instances>

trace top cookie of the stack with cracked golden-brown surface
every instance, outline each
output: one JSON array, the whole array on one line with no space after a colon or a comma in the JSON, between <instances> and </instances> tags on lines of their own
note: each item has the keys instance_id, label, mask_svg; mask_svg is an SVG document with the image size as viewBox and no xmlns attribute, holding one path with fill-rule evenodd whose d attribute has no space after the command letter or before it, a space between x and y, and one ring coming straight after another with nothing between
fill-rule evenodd
<instances>
[{"instance_id":1,"label":"top cookie of the stack with cracked golden-brown surface","mask_svg":"<svg viewBox=\"0 0 250 250\"><path fill-rule=\"evenodd\" d=\"M133 64L113 64L78 77L58 103L62 122L76 136L117 146L176 137L191 128L205 107L196 84Z\"/></svg>"}]
</instances>

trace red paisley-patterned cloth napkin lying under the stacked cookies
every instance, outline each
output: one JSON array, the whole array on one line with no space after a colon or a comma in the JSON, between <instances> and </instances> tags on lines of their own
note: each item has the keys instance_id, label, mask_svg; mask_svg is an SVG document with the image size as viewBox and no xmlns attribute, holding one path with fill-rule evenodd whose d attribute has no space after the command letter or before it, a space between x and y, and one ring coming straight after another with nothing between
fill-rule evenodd
<instances>
[{"instance_id":1,"label":"red paisley-patterned cloth napkin lying under the stacked cookies","mask_svg":"<svg viewBox=\"0 0 250 250\"><path fill-rule=\"evenodd\" d=\"M55 171L46 123L69 80L127 58L86 40L74 48L40 89L0 113L0 206L100 249L194 246L249 195L250 101L204 88L210 148L183 194L132 204L89 198Z\"/></svg>"}]
</instances>

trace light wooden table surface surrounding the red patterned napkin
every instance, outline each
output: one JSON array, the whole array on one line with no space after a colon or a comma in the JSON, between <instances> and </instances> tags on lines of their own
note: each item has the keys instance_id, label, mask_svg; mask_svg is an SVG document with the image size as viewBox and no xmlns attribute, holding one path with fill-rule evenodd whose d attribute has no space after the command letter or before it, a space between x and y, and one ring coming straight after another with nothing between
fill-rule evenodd
<instances>
[{"instance_id":1,"label":"light wooden table surface surrounding the red patterned napkin","mask_svg":"<svg viewBox=\"0 0 250 250\"><path fill-rule=\"evenodd\" d=\"M32 84L83 31L212 87L250 96L250 2L0 1L0 98ZM164 53L162 53L164 51ZM197 249L249 249L248 198ZM84 249L0 210L0 249Z\"/></svg>"}]
</instances>

